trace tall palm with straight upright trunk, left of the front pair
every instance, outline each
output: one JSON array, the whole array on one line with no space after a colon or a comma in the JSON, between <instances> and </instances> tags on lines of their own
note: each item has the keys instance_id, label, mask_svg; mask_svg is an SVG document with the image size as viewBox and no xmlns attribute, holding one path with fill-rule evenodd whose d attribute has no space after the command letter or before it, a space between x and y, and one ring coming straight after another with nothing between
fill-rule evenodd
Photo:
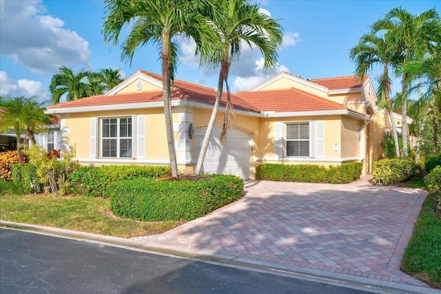
<instances>
[{"instance_id":1,"label":"tall palm with straight upright trunk, left of the front pair","mask_svg":"<svg viewBox=\"0 0 441 294\"><path fill-rule=\"evenodd\" d=\"M208 48L205 43L212 43L216 36L198 13L196 6L210 5L209 3L208 0L104 1L108 13L103 23L105 43L116 45L121 30L125 26L131 27L121 45L122 60L132 61L136 49L149 43L156 45L161 54L165 129L173 178L178 178L170 93L180 52L176 37L194 37L200 45L201 56L205 56L205 50Z\"/></svg>"}]
</instances>

